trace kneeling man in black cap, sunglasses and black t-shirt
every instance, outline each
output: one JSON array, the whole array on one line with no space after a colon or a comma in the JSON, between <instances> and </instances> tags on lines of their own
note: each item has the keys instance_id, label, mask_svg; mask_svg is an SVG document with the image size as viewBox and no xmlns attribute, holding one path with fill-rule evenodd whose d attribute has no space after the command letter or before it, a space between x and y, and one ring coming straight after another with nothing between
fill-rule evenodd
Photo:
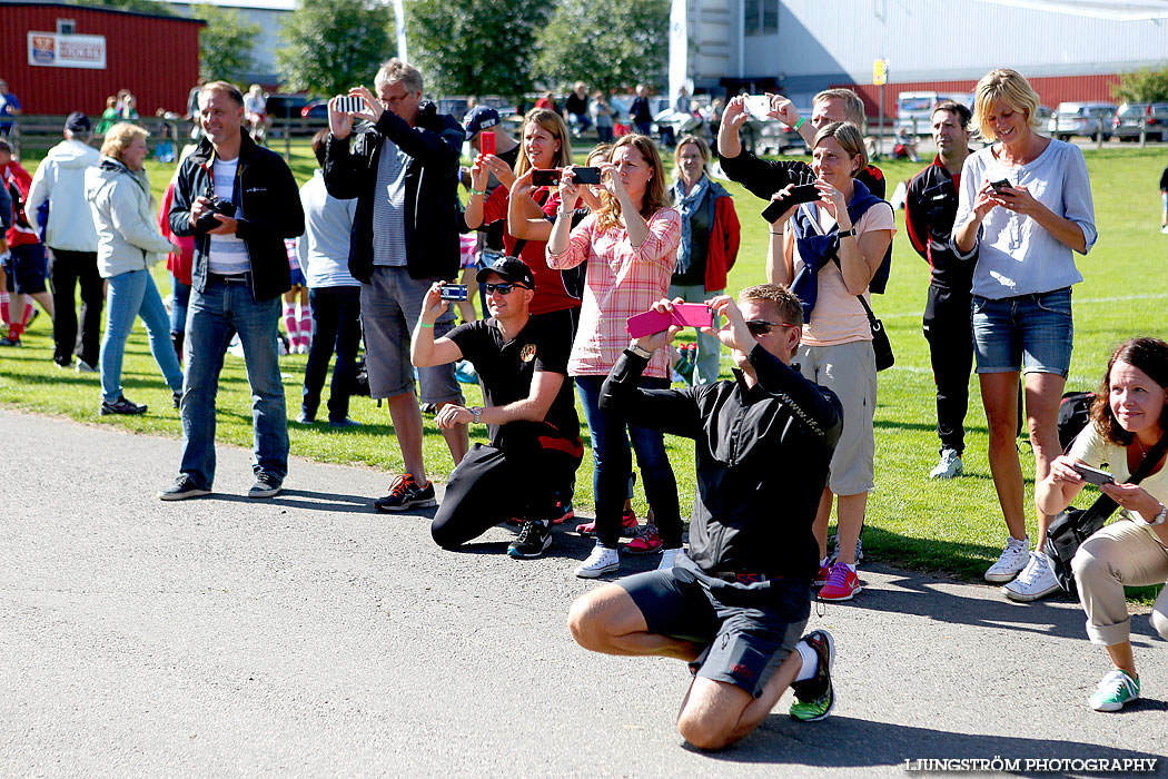
<instances>
[{"instance_id":1,"label":"kneeling man in black cap, sunglasses and black t-shirt","mask_svg":"<svg viewBox=\"0 0 1168 779\"><path fill-rule=\"evenodd\" d=\"M522 527L507 554L538 557L551 545L551 520L563 513L557 512L559 495L584 454L568 380L572 345L555 328L528 327L535 276L523 260L500 257L479 271L478 281L487 293L488 319L436 340L434 322L449 305L438 283L413 328L415 366L470 360L482 382L486 405L445 405L438 427L485 424L491 438L454 468L430 531L440 547L453 549L517 517Z\"/></svg>"}]
</instances>

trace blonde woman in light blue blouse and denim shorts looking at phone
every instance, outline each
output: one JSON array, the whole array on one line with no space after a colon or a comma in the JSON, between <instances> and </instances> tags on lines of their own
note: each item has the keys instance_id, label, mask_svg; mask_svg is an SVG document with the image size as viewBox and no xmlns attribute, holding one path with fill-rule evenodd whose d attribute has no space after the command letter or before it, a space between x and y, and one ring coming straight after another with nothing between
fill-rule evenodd
<instances>
[{"instance_id":1,"label":"blonde woman in light blue blouse and denim shorts looking at phone","mask_svg":"<svg viewBox=\"0 0 1168 779\"><path fill-rule=\"evenodd\" d=\"M1009 531L987 582L1013 600L1058 590L1041 551L1029 551L1018 464L1017 385L1026 382L1027 427L1035 481L1047 477L1058 445L1058 403L1071 364L1071 285L1083 280L1075 255L1096 242L1091 181L1077 146L1035 132L1038 95L1021 74L993 70L975 90L974 119L990 146L966 158L953 244L976 260L973 334L981 399L989 426L989 472ZM1042 549L1050 516L1038 510ZM1016 578L1015 578L1016 577Z\"/></svg>"}]
</instances>

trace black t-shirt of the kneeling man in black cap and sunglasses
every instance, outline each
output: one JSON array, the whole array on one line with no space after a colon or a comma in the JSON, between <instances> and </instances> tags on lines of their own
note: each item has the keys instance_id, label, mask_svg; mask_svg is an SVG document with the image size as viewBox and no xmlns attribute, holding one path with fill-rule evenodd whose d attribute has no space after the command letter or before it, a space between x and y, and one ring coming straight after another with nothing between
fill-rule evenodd
<instances>
[{"instance_id":1,"label":"black t-shirt of the kneeling man in black cap and sunglasses","mask_svg":"<svg viewBox=\"0 0 1168 779\"><path fill-rule=\"evenodd\" d=\"M551 402L543 422L512 422L488 425L491 445L507 451L513 447L544 447L540 438L549 437L573 445L579 443L579 419L568 378L568 355L571 341L556 338L556 333L527 327L510 341L505 341L499 322L492 317L459 325L446 334L463 356L474 364L482 382L487 405L507 405L531 394L535 371L561 374L564 383Z\"/></svg>"}]
</instances>

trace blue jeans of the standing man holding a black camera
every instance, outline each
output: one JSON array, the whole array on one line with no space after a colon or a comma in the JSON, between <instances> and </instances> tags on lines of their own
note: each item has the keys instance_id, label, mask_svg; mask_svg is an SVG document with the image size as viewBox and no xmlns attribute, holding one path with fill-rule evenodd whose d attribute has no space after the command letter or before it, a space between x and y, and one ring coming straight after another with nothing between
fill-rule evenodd
<instances>
[{"instance_id":1,"label":"blue jeans of the standing man holding a black camera","mask_svg":"<svg viewBox=\"0 0 1168 779\"><path fill-rule=\"evenodd\" d=\"M182 390L182 462L179 471L196 487L215 481L215 396L223 355L239 334L251 385L255 429L251 470L283 481L288 470L288 420L276 341L279 295L256 301L251 285L208 276L207 290L192 290L187 311L187 382ZM173 352L172 352L173 354Z\"/></svg>"}]
</instances>

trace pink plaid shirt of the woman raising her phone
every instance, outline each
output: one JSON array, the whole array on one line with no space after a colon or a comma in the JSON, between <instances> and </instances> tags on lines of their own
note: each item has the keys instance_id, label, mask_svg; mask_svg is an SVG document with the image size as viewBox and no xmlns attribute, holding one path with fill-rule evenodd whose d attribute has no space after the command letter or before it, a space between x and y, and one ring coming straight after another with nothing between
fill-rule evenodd
<instances>
[{"instance_id":1,"label":"pink plaid shirt of the woman raising her phone","mask_svg":"<svg viewBox=\"0 0 1168 779\"><path fill-rule=\"evenodd\" d=\"M568 361L572 376L605 376L628 346L625 322L669 293L669 278L681 243L681 215L662 208L649 217L649 236L639 246L628 242L625 228L600 231L596 215L572 230L568 250L548 252L550 267L576 267L588 260L584 301L576 343ZM667 349L659 349L644 375L666 378Z\"/></svg>"}]
</instances>

